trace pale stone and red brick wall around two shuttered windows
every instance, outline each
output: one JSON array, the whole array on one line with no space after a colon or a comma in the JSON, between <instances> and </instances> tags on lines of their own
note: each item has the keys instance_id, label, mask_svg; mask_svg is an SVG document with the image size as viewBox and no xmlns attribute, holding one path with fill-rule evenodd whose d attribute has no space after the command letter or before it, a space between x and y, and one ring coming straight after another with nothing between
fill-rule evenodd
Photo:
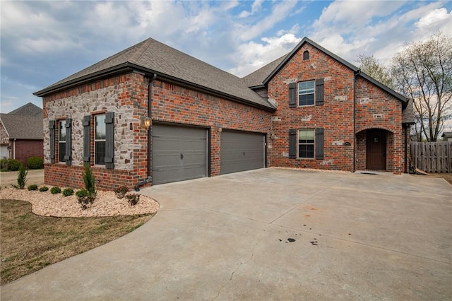
<instances>
[{"instance_id":1,"label":"pale stone and red brick wall around two shuttered windows","mask_svg":"<svg viewBox=\"0 0 452 301\"><path fill-rule=\"evenodd\" d=\"M43 99L44 165L46 184L82 187L83 117L90 114L91 165L100 189L121 184L132 186L147 176L147 131L141 118L147 114L148 79L140 73L128 73L56 93ZM95 166L93 116L114 112L114 170ZM50 163L49 120L72 119L72 165ZM57 135L56 135L57 136ZM56 143L57 144L57 143ZM57 157L57 149L56 149Z\"/></svg>"}]
</instances>

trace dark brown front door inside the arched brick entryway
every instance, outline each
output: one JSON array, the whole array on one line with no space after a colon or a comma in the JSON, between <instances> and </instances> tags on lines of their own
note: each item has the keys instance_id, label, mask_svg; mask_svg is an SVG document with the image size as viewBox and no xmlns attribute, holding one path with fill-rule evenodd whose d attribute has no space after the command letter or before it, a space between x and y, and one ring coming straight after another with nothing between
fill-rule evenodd
<instances>
[{"instance_id":1,"label":"dark brown front door inside the arched brick entryway","mask_svg":"<svg viewBox=\"0 0 452 301\"><path fill-rule=\"evenodd\" d=\"M367 130L366 168L368 170L386 170L386 131Z\"/></svg>"}]
</instances>

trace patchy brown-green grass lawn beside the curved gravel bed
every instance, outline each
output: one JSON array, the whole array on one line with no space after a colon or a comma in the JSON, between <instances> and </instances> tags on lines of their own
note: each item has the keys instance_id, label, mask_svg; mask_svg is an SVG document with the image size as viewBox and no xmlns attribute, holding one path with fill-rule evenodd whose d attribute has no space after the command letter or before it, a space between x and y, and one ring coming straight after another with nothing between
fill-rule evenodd
<instances>
[{"instance_id":1,"label":"patchy brown-green grass lawn beside the curved gravel bed","mask_svg":"<svg viewBox=\"0 0 452 301\"><path fill-rule=\"evenodd\" d=\"M135 230L152 215L49 218L27 201L0 200L1 285Z\"/></svg>"}]
</instances>

